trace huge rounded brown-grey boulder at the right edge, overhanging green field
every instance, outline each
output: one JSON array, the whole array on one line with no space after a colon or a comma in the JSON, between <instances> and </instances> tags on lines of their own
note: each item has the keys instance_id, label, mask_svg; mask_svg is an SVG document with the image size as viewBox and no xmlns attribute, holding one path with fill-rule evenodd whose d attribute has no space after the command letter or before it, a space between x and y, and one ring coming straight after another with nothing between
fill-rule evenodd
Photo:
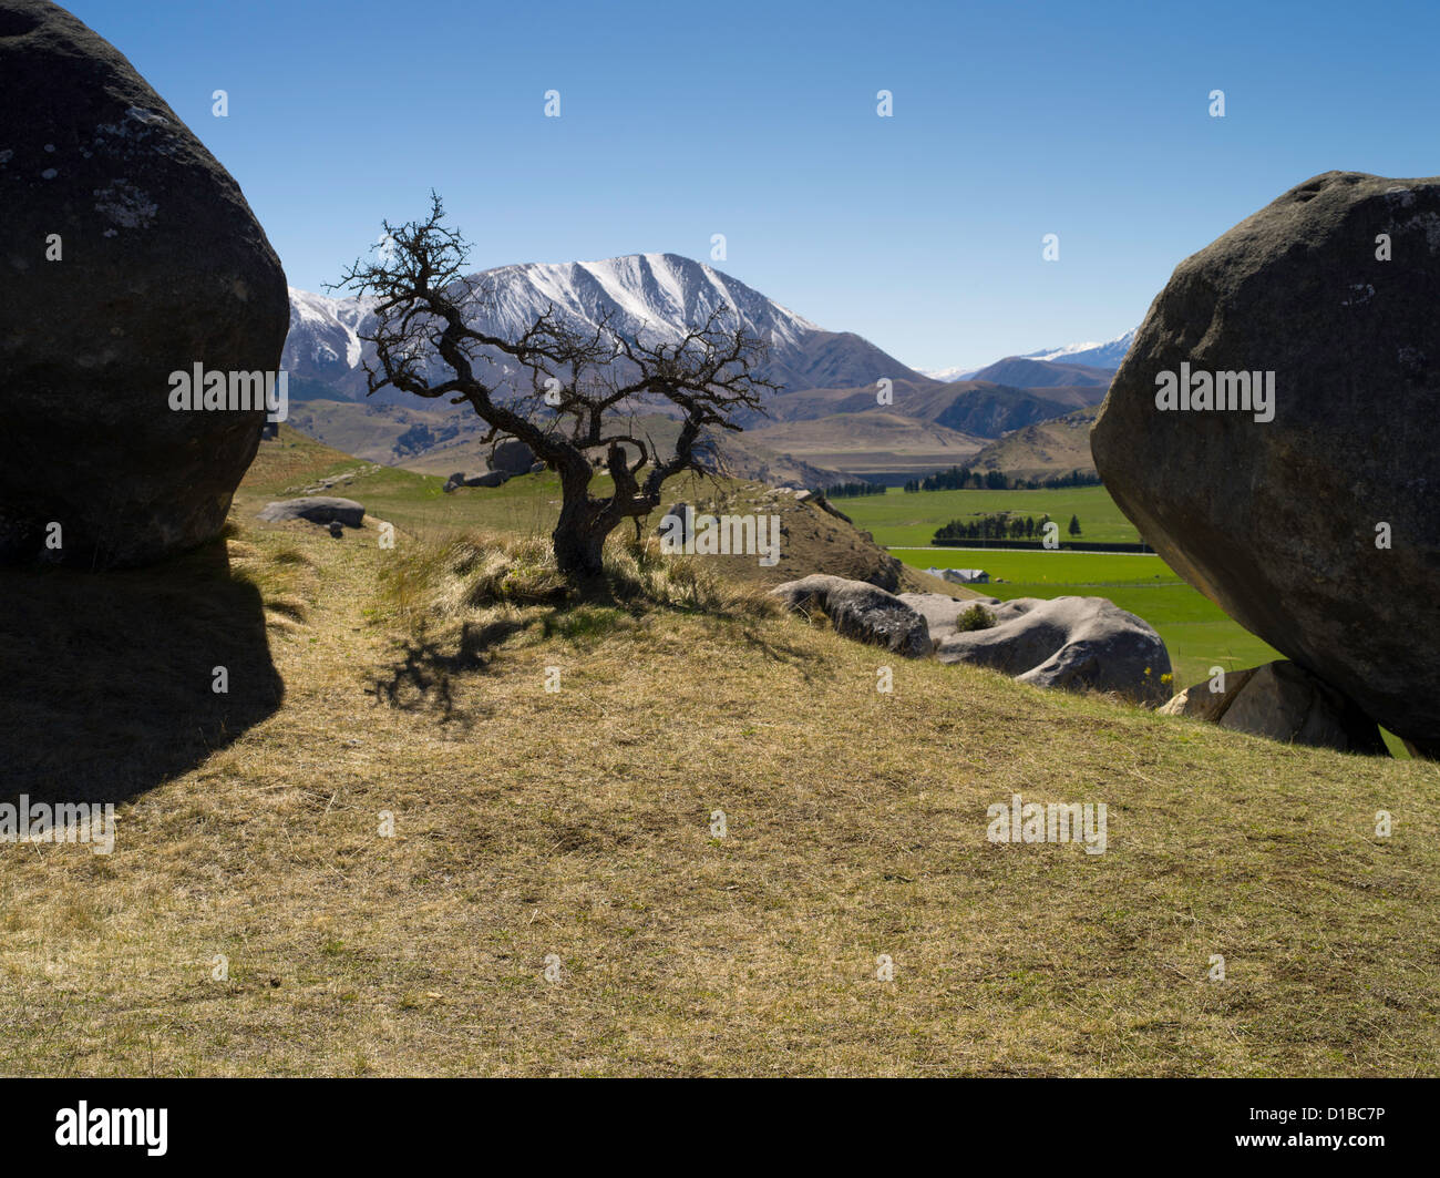
<instances>
[{"instance_id":1,"label":"huge rounded brown-grey boulder at the right edge, overhanging green field","mask_svg":"<svg viewBox=\"0 0 1440 1178\"><path fill-rule=\"evenodd\" d=\"M1273 405L1162 409L1182 364L1273 373ZM1434 753L1437 421L1440 179L1331 171L1181 262L1090 445L1171 567Z\"/></svg>"}]
</instances>

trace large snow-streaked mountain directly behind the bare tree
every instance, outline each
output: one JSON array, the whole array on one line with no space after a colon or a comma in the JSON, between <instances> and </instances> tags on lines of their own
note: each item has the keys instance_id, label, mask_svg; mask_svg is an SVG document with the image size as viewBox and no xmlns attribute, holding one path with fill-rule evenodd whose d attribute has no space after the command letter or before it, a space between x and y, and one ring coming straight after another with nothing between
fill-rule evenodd
<instances>
[{"instance_id":1,"label":"large snow-streaked mountain directly behind the bare tree","mask_svg":"<svg viewBox=\"0 0 1440 1178\"><path fill-rule=\"evenodd\" d=\"M497 266L478 275L472 323L487 334L514 337L549 307L577 327L609 313L624 334L674 340L721 310L770 344L765 376L788 389L858 387L883 376L920 379L893 356L850 333L832 333L703 262L675 253L632 253L599 262ZM300 397L364 397L360 340L372 324L369 304L291 288L284 364Z\"/></svg>"}]
</instances>

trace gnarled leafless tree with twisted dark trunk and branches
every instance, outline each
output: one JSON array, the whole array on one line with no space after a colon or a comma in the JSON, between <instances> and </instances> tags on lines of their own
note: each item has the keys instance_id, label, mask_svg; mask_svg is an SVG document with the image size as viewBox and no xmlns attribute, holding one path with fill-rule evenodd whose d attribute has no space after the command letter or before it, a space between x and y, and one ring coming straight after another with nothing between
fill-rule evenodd
<instances>
[{"instance_id":1,"label":"gnarled leafless tree with twisted dark trunk and branches","mask_svg":"<svg viewBox=\"0 0 1440 1178\"><path fill-rule=\"evenodd\" d=\"M377 256L341 278L341 287L374 297L376 327L361 336L376 351L376 363L366 363L369 390L468 402L488 426L482 444L503 433L526 442L560 475L560 570L572 580L595 577L605 539L624 520L655 510L665 480L704 469L708 429L739 431L737 410L765 412L763 393L779 389L757 374L768 344L721 311L665 340L625 336L608 315L577 328L553 305L516 338L490 336L471 324L495 292L464 274L468 245L444 220L431 193L428 219L386 222ZM660 455L632 422L644 406L667 402L681 412L680 432ZM613 481L609 495L590 494L596 449Z\"/></svg>"}]
</instances>

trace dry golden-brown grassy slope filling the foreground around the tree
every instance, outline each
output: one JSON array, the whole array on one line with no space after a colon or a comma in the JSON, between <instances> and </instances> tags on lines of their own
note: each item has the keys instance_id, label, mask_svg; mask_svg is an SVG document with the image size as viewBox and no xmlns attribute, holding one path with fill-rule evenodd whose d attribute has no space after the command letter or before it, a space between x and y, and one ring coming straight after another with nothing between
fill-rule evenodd
<instances>
[{"instance_id":1,"label":"dry golden-brown grassy slope filling the foreground around the tree","mask_svg":"<svg viewBox=\"0 0 1440 1178\"><path fill-rule=\"evenodd\" d=\"M0 844L0 1071L1440 1070L1436 766L904 662L708 566L618 554L626 595L554 601L543 544L456 543L504 495L310 446L173 566L0 575L35 605L0 621L0 752L63 732L39 785L120 802L112 855ZM396 549L253 521L346 469L416 521ZM43 602L84 619L68 681L27 670ZM197 736L174 668L236 611L261 647ZM1106 854L988 842L1015 792L1104 802Z\"/></svg>"}]
</instances>

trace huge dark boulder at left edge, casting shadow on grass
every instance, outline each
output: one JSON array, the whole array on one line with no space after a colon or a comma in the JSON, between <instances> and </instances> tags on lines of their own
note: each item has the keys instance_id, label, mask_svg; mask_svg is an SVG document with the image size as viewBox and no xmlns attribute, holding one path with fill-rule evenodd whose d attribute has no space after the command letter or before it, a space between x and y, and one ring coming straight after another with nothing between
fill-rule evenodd
<instances>
[{"instance_id":1,"label":"huge dark boulder at left edge, casting shadow on grass","mask_svg":"<svg viewBox=\"0 0 1440 1178\"><path fill-rule=\"evenodd\" d=\"M84 567L194 546L265 410L176 412L170 374L279 367L279 259L176 112L55 4L0 0L0 559L52 521Z\"/></svg>"}]
</instances>

